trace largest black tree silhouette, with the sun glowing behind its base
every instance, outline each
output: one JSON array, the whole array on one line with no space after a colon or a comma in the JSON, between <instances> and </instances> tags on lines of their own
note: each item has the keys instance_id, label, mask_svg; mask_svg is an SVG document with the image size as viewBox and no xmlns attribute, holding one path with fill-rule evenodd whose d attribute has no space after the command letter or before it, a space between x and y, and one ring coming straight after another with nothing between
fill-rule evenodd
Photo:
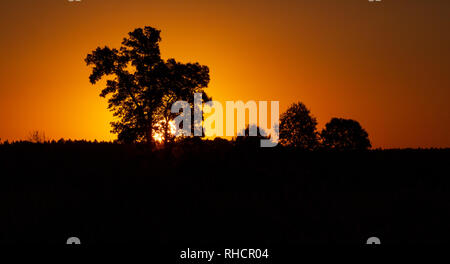
<instances>
[{"instance_id":1,"label":"largest black tree silhouette, with the sun glowing behind its base","mask_svg":"<svg viewBox=\"0 0 450 264\"><path fill-rule=\"evenodd\" d=\"M120 49L98 47L85 59L92 66L92 84L109 77L100 96L109 96L108 108L118 120L111 123L111 132L121 142L153 143L157 129L164 131L167 141L172 104L184 100L193 106L194 93L204 93L208 86L207 66L163 60L160 41L159 30L138 28L124 38Z\"/></svg>"}]
</instances>

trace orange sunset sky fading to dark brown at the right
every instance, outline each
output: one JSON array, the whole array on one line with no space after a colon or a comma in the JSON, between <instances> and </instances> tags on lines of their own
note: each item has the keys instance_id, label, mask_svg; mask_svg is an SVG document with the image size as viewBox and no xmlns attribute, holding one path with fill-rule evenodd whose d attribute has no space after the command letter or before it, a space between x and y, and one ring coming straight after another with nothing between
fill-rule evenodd
<instances>
[{"instance_id":1,"label":"orange sunset sky fading to dark brown at the right","mask_svg":"<svg viewBox=\"0 0 450 264\"><path fill-rule=\"evenodd\" d=\"M450 147L448 0L15 0L0 7L0 138L111 140L84 58L137 27L211 70L219 101L302 101L374 147Z\"/></svg>"}]
</instances>

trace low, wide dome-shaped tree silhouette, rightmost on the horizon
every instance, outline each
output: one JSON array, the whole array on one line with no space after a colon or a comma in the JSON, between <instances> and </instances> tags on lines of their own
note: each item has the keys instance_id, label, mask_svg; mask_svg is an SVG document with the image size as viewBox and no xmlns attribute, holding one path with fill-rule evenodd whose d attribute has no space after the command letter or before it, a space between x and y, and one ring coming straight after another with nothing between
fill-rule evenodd
<instances>
[{"instance_id":1,"label":"low, wide dome-shaped tree silhouette, rightmost on the horizon","mask_svg":"<svg viewBox=\"0 0 450 264\"><path fill-rule=\"evenodd\" d=\"M372 147L369 134L351 119L333 118L322 130L321 138L327 149L366 150Z\"/></svg>"}]
</instances>

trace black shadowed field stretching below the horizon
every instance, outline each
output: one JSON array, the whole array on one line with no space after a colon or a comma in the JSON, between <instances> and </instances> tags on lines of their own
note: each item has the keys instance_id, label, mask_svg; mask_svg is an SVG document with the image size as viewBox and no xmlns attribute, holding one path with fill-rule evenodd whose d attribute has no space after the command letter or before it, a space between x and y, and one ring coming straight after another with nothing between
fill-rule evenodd
<instances>
[{"instance_id":1,"label":"black shadowed field stretching below the horizon","mask_svg":"<svg viewBox=\"0 0 450 264\"><path fill-rule=\"evenodd\" d=\"M0 146L0 243L448 243L450 150Z\"/></svg>"}]
</instances>

